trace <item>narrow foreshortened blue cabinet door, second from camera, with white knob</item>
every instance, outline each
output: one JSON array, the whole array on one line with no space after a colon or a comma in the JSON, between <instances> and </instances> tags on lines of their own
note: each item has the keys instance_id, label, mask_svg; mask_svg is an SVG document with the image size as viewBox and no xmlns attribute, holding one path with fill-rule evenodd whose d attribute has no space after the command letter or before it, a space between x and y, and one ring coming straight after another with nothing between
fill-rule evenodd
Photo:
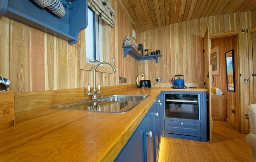
<instances>
[{"instance_id":1,"label":"narrow foreshortened blue cabinet door, second from camera, with white knob","mask_svg":"<svg viewBox=\"0 0 256 162\"><path fill-rule=\"evenodd\" d=\"M155 104L150 108L148 111L148 130L147 133L152 132L152 136L147 135L147 161L148 162L155 162L155 119L154 119L154 109Z\"/></svg>"}]
</instances>

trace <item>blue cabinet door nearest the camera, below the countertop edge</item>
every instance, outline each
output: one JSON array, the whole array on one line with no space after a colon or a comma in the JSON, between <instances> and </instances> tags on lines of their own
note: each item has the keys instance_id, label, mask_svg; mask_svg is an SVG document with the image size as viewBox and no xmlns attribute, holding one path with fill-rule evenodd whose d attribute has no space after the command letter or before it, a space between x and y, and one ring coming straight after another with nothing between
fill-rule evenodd
<instances>
[{"instance_id":1,"label":"blue cabinet door nearest the camera, below the countertop edge","mask_svg":"<svg viewBox=\"0 0 256 162\"><path fill-rule=\"evenodd\" d=\"M148 115L146 115L115 159L115 162L147 162L146 142L149 138L146 133L148 121Z\"/></svg>"}]
</instances>

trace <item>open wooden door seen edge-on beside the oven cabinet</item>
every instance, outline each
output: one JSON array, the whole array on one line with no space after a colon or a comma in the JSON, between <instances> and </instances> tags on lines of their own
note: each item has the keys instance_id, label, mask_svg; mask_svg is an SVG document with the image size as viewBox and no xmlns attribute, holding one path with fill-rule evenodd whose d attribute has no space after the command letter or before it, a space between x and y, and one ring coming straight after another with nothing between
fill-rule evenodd
<instances>
[{"instance_id":1,"label":"open wooden door seen edge-on beside the oven cabinet","mask_svg":"<svg viewBox=\"0 0 256 162\"><path fill-rule=\"evenodd\" d=\"M208 89L207 92L207 107L209 115L209 140L212 142L212 129L213 129L213 119L212 119L212 106L211 106L211 93L212 93L212 69L210 66L210 33L209 26L204 34L204 87Z\"/></svg>"}]
</instances>

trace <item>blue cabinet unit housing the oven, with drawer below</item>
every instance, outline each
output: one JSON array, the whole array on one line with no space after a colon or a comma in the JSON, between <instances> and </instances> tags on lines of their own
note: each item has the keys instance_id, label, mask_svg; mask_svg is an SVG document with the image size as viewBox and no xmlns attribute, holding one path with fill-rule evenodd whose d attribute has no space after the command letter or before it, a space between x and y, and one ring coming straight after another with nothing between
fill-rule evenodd
<instances>
[{"instance_id":1,"label":"blue cabinet unit housing the oven, with drawer below","mask_svg":"<svg viewBox=\"0 0 256 162\"><path fill-rule=\"evenodd\" d=\"M163 136L206 142L206 92L164 92L163 96Z\"/></svg>"}]
</instances>

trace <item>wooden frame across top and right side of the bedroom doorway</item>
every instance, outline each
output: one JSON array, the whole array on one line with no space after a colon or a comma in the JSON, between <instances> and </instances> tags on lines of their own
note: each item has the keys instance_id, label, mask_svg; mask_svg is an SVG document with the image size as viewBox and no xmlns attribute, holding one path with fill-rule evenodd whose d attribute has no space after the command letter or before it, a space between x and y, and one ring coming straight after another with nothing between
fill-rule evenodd
<instances>
[{"instance_id":1,"label":"wooden frame across top and right side of the bedroom doorway","mask_svg":"<svg viewBox=\"0 0 256 162\"><path fill-rule=\"evenodd\" d=\"M235 59L238 59L238 70L240 73L240 60L239 60L239 34L242 34L241 30L234 30L234 31L228 31L228 32L219 32L219 33L211 33L210 39L214 38L221 38L221 37L228 37L228 36L236 36L237 39L237 57ZM241 132L241 122L240 122L240 112L241 112L241 106L240 106L240 79L238 80L238 87L236 87L236 90L239 92L239 109L236 112L236 130L238 132Z\"/></svg>"}]
</instances>

